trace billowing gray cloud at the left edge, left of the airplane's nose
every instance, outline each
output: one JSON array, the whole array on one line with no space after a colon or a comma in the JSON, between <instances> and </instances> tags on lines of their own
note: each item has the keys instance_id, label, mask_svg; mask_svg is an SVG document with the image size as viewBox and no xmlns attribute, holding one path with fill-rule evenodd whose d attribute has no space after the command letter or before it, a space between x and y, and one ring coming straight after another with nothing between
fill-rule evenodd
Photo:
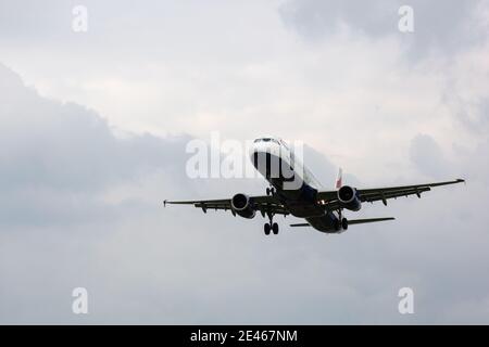
<instances>
[{"instance_id":1,"label":"billowing gray cloud at the left edge, left of the airplane's nose","mask_svg":"<svg viewBox=\"0 0 489 347\"><path fill-rule=\"evenodd\" d=\"M0 74L0 223L108 218L114 206L98 194L154 171L185 172L187 137L118 139L93 111L40 98L2 65Z\"/></svg>"}]
</instances>

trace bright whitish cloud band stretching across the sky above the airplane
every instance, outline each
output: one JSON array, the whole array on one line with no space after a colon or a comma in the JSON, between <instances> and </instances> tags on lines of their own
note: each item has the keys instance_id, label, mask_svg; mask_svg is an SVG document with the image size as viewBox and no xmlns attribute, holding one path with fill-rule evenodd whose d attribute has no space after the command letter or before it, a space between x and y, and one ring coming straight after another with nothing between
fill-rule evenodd
<instances>
[{"instance_id":1,"label":"bright whitish cloud band stretching across the sky above the airplane","mask_svg":"<svg viewBox=\"0 0 489 347\"><path fill-rule=\"evenodd\" d=\"M364 14L372 18L368 23L384 25L377 13L390 7L304 1L285 2L285 9L288 3L298 11L311 7L311 15L316 13L326 24L341 22L352 12L360 22ZM460 127L454 119L467 119L465 114L469 119L480 117L477 105L484 104L488 89L487 79L478 77L487 73L487 30L477 44L464 46L477 37L464 36L460 50L424 54L412 64L406 60L405 36L397 30L393 35L333 30L327 39L311 40L284 25L287 20L276 2L247 1L239 7L222 1L143 2L137 11L128 1L85 4L86 35L71 30L71 3L48 1L39 23L21 29L5 22L22 39L15 38L12 46L11 37L0 34L4 43L0 54L41 95L87 105L110 126L162 137L185 131L205 138L220 129L224 137L240 140L265 130L306 140L347 170L362 171L371 180L379 177L378 166L410 169L405 158L419 128L443 147L451 142L476 145L465 126L469 123L461 121ZM29 5L5 4L5 13L22 16L18 23L30 23L30 12L24 11ZM318 11L313 11L315 5ZM423 9L416 10L422 12L416 18L425 12L439 17L448 11L448 17L457 15L454 23L479 23L472 12L466 15L465 4L457 4L464 7L460 11L431 5L425 11L424 2L415 7ZM481 21L484 13L479 12ZM333 18L321 21L322 15ZM397 10L393 15L396 28ZM54 25L58 35L51 35L46 23ZM431 26L423 24L419 30ZM418 34L416 39L431 35ZM383 151L386 142L391 151ZM386 171L381 179L390 177Z\"/></svg>"}]
</instances>

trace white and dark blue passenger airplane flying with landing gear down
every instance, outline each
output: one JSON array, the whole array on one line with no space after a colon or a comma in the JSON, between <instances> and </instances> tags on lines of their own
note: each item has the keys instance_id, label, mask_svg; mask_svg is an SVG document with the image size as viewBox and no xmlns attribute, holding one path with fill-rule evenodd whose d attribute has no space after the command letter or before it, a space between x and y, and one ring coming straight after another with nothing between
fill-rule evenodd
<instances>
[{"instance_id":1,"label":"white and dark blue passenger airplane flying with landing gear down","mask_svg":"<svg viewBox=\"0 0 489 347\"><path fill-rule=\"evenodd\" d=\"M343 184L342 170L339 169L334 190L324 190L312 172L303 166L287 143L276 137L259 138L253 141L250 151L254 168L268 181L266 195L249 196L235 194L231 198L201 201L164 201L163 205L193 205L203 213L208 209L230 210L233 216L254 218L256 211L267 217L264 233L278 234L278 224L273 221L275 215L292 215L304 218L305 222L292 223L290 227L312 227L324 233L341 233L349 226L393 220L393 217L365 218L349 220L343 210L358 211L362 203L383 202L400 196L417 195L428 192L434 187L465 182L463 179L412 184L400 187L381 187L356 189ZM278 168L278 169L277 169ZM297 183L299 182L299 183ZM291 188L292 187L292 188Z\"/></svg>"}]
</instances>

